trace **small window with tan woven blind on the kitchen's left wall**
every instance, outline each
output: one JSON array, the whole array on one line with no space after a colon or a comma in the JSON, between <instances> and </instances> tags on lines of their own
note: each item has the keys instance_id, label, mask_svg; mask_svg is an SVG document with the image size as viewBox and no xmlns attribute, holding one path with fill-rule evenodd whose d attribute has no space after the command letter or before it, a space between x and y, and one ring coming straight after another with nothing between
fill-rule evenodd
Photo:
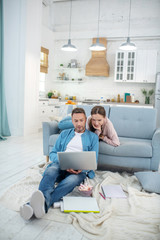
<instances>
[{"instance_id":1,"label":"small window with tan woven blind on the kitchen's left wall","mask_svg":"<svg viewBox=\"0 0 160 240\"><path fill-rule=\"evenodd\" d=\"M42 73L48 73L48 54L49 50L41 47L40 72Z\"/></svg>"}]
</instances>

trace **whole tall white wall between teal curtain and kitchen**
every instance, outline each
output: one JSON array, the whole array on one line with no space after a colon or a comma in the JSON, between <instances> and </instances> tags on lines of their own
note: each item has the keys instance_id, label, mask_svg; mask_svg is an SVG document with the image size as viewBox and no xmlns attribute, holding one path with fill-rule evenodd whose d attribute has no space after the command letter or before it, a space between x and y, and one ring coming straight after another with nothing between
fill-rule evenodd
<instances>
[{"instance_id":1,"label":"whole tall white wall between teal curtain and kitchen","mask_svg":"<svg viewBox=\"0 0 160 240\"><path fill-rule=\"evenodd\" d=\"M38 131L41 42L39 0L5 0L4 78L11 135Z\"/></svg>"}]
</instances>

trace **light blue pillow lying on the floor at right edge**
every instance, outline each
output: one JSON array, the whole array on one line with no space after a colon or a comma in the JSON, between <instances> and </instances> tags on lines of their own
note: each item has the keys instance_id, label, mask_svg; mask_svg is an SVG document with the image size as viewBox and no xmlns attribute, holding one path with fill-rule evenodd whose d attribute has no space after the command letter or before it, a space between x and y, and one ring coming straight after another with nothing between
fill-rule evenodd
<instances>
[{"instance_id":1,"label":"light blue pillow lying on the floor at right edge","mask_svg":"<svg viewBox=\"0 0 160 240\"><path fill-rule=\"evenodd\" d=\"M160 193L160 173L159 172L135 172L143 189L147 192Z\"/></svg>"}]
</instances>

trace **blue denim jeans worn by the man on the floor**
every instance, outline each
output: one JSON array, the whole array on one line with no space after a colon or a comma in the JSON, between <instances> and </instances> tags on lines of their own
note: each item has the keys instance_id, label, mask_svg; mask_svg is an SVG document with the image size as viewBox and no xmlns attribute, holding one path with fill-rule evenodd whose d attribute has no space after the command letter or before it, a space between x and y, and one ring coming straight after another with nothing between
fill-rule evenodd
<instances>
[{"instance_id":1,"label":"blue denim jeans worn by the man on the floor","mask_svg":"<svg viewBox=\"0 0 160 240\"><path fill-rule=\"evenodd\" d=\"M45 197L45 210L48 212L54 202L72 192L86 178L85 173L73 174L60 169L59 164L52 163L45 170L43 178L39 184L39 190ZM55 187L55 183L58 183Z\"/></svg>"}]
</instances>

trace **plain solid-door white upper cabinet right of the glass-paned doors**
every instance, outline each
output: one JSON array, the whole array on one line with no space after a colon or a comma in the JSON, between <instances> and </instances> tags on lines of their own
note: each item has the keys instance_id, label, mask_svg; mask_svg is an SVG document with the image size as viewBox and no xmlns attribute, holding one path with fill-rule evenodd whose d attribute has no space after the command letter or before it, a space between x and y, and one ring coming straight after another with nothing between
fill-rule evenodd
<instances>
[{"instance_id":1,"label":"plain solid-door white upper cabinet right of the glass-paned doors","mask_svg":"<svg viewBox=\"0 0 160 240\"><path fill-rule=\"evenodd\" d=\"M136 82L154 83L156 79L156 50L137 51Z\"/></svg>"}]
</instances>

